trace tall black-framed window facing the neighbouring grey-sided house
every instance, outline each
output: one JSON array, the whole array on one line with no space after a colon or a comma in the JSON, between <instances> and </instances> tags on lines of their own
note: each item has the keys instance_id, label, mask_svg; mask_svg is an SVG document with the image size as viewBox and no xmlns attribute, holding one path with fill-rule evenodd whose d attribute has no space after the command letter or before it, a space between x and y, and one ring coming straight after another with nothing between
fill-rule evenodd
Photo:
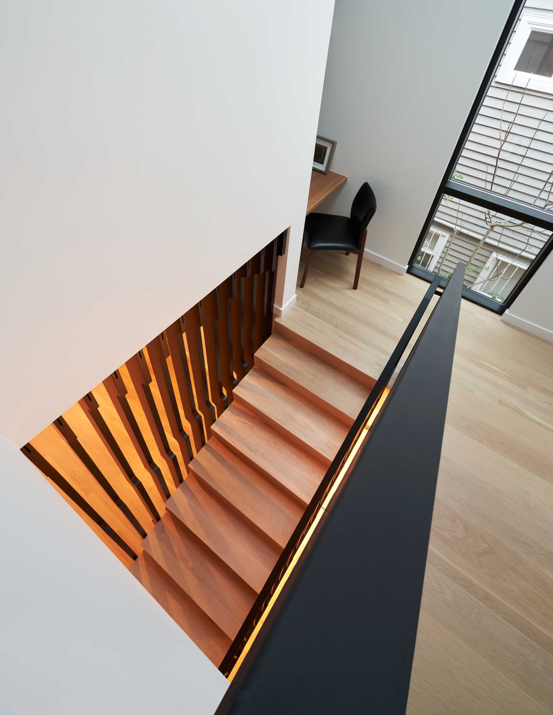
<instances>
[{"instance_id":1,"label":"tall black-framed window facing the neighbouring grey-sided house","mask_svg":"<svg viewBox=\"0 0 553 715\"><path fill-rule=\"evenodd\" d=\"M553 11L517 0L486 71L409 272L504 312L553 248Z\"/></svg>"}]
</instances>

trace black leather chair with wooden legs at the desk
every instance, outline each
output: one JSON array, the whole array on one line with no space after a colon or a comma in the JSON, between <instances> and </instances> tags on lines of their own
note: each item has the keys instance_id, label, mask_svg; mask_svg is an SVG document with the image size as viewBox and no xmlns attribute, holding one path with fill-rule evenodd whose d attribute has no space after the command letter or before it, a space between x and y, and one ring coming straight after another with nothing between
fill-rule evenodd
<instances>
[{"instance_id":1,"label":"black leather chair with wooden legs at the desk","mask_svg":"<svg viewBox=\"0 0 553 715\"><path fill-rule=\"evenodd\" d=\"M303 240L309 252L300 288L305 285L311 251L346 251L346 255L357 254L356 277L353 280L353 290L357 290L367 239L367 226L375 211L376 197L373 189L365 182L353 199L349 218L333 214L307 215Z\"/></svg>"}]
</instances>

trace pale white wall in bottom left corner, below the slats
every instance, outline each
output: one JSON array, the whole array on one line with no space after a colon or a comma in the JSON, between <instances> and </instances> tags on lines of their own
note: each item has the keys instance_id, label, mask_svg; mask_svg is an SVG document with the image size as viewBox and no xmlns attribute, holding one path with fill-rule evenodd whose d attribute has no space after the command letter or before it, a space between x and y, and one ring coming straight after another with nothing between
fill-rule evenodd
<instances>
[{"instance_id":1,"label":"pale white wall in bottom left corner, below the slats","mask_svg":"<svg viewBox=\"0 0 553 715\"><path fill-rule=\"evenodd\" d=\"M212 715L228 686L0 436L2 715Z\"/></svg>"}]
</instances>

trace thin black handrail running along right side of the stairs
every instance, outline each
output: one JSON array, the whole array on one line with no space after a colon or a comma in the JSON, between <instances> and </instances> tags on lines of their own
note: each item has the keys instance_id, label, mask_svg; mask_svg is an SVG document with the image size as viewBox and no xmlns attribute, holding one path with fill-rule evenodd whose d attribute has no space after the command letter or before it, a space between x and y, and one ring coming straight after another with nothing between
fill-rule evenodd
<instances>
[{"instance_id":1,"label":"thin black handrail running along right side of the stairs","mask_svg":"<svg viewBox=\"0 0 553 715\"><path fill-rule=\"evenodd\" d=\"M459 265L464 266L464 264ZM358 435L361 433L361 430L363 430L366 423L371 418L371 413L373 412L373 409L376 407L376 405L378 405L383 390L388 385L388 382L393 375L393 371L396 369L399 361L401 360L403 352L405 352L406 347L411 340L411 337L413 337L413 334L417 326L419 325L419 322L421 321L421 318L423 317L426 308L429 306L429 303L434 296L434 293L436 293L440 281L441 277L439 275L436 275L434 281L431 283L429 289L426 291L423 299L421 300L419 307L417 307L416 311L413 314L413 317L409 321L406 330L403 332L403 335L401 336L398 344L396 345L396 348L393 350L388 362L386 363L385 368L382 370L380 377L378 378L378 380L376 380L376 383L371 390L371 393L368 395L366 403L363 405L361 412L358 414L358 417L354 421L353 425L351 425L351 428L348 431L346 438L343 440L343 443L338 449L338 453L336 453L336 457L333 459L331 465L326 471L326 474L321 480L320 485L313 494L313 498L308 504L308 507L305 509L305 512L303 513L303 516L300 519L298 526L296 526L295 530L293 531L292 536L290 536L290 539L288 540L288 543L283 549L280 558L278 558L277 563L275 563L275 567L273 568L273 571L271 571L271 573L269 574L265 585L263 586L262 590L258 595L258 598L256 598L255 602L253 603L253 606L250 609L248 616L246 616L245 618L243 626L241 626L240 630L235 636L235 639L231 644L229 650L227 651L225 658L222 660L222 663L219 668L222 674L224 674L225 676L227 676L233 669L233 666L238 660L240 653L243 651L243 648L248 641L248 638L250 638L251 634L253 633L253 630L258 623L260 616L262 615L263 611L265 611L265 608L267 607L270 598L273 596L275 589L280 583L280 580L283 578L283 575L288 568L290 561L292 561L293 556L295 555L296 551L298 551L298 548L300 546L300 543L303 541L305 533L308 532L311 524L313 523L313 519L318 513L320 505L323 503L323 501L325 501L326 495L331 490L333 483L336 480L336 477L341 472L343 464L346 463L346 460L351 453L353 445L355 445L357 441Z\"/></svg>"}]
</instances>

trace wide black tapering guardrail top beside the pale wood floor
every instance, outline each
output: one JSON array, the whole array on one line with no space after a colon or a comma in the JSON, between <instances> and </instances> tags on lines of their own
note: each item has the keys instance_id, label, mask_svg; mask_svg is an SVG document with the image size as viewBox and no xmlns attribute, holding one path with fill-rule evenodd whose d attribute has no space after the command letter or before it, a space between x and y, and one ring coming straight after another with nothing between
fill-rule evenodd
<instances>
[{"instance_id":1,"label":"wide black tapering guardrail top beside the pale wood floor","mask_svg":"<svg viewBox=\"0 0 553 715\"><path fill-rule=\"evenodd\" d=\"M405 714L463 277L459 264L217 715Z\"/></svg>"}]
</instances>

